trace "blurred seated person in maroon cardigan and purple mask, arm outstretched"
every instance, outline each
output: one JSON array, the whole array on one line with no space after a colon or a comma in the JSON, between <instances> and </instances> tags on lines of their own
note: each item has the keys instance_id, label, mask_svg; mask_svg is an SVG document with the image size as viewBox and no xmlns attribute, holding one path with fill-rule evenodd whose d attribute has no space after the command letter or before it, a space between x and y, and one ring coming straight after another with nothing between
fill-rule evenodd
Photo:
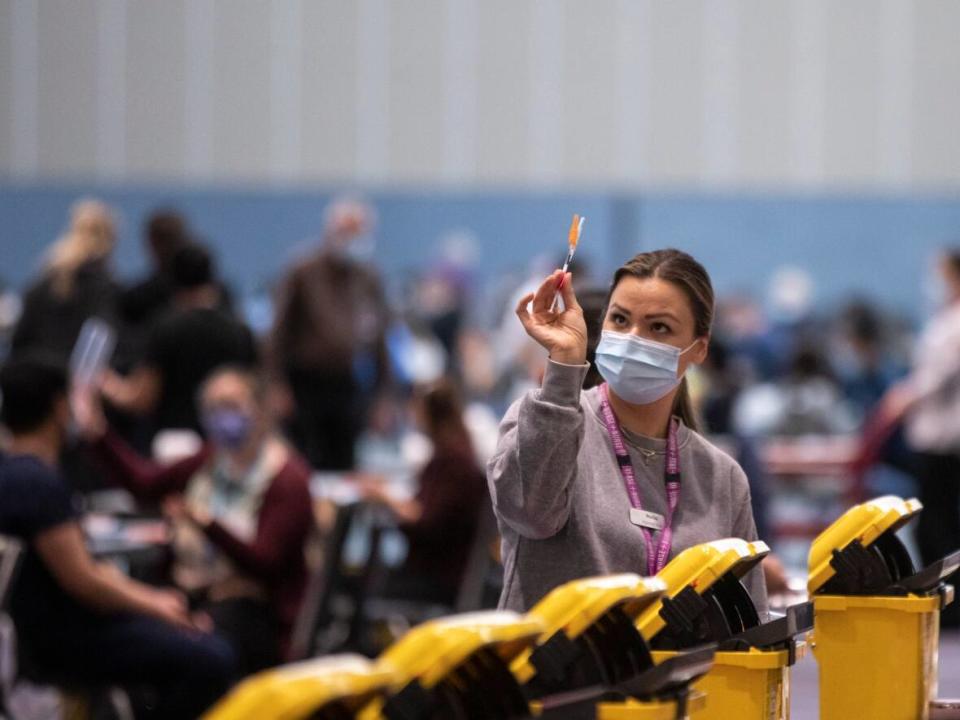
<instances>
[{"instance_id":1,"label":"blurred seated person in maroon cardigan and purple mask, arm outstretched","mask_svg":"<svg viewBox=\"0 0 960 720\"><path fill-rule=\"evenodd\" d=\"M250 371L214 370L199 406L207 441L171 464L138 455L97 402L81 428L116 481L140 500L163 502L175 582L210 614L241 670L255 672L283 657L306 586L310 470L275 432L265 386Z\"/></svg>"}]
</instances>

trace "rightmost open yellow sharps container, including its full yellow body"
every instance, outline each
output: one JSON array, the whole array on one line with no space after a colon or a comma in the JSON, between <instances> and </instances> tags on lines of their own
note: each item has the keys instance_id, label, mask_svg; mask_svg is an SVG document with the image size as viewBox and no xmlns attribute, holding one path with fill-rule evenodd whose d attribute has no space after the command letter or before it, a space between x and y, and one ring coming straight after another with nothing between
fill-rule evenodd
<instances>
[{"instance_id":1,"label":"rightmost open yellow sharps container, including its full yellow body","mask_svg":"<svg viewBox=\"0 0 960 720\"><path fill-rule=\"evenodd\" d=\"M823 720L929 716L940 610L953 600L943 578L960 567L960 553L916 572L896 532L921 509L894 496L856 505L810 548Z\"/></svg>"}]
</instances>

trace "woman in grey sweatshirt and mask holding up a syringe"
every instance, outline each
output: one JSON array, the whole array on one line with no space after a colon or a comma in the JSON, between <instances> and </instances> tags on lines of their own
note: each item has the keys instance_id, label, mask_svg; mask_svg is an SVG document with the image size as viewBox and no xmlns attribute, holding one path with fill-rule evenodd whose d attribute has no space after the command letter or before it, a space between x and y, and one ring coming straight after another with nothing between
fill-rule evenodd
<instances>
[{"instance_id":1,"label":"woman in grey sweatshirt and mask holding up a syringe","mask_svg":"<svg viewBox=\"0 0 960 720\"><path fill-rule=\"evenodd\" d=\"M563 309L553 311L558 287ZM654 575L698 543L757 539L747 478L697 432L684 380L710 343L706 270L678 250L641 253L616 271L605 305L595 354L604 382L589 390L572 276L554 272L517 306L549 359L540 389L507 411L487 466L502 608L525 611L576 578ZM762 572L746 584L765 612Z\"/></svg>"}]
</instances>

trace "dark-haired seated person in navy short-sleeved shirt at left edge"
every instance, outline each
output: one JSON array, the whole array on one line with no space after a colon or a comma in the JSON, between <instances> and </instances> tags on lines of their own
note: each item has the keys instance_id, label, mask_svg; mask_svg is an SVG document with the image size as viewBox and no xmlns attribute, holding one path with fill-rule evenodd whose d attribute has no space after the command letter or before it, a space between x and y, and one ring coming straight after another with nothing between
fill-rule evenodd
<instances>
[{"instance_id":1,"label":"dark-haired seated person in navy short-sleeved shirt at left edge","mask_svg":"<svg viewBox=\"0 0 960 720\"><path fill-rule=\"evenodd\" d=\"M179 591L91 557L58 467L68 437L67 373L29 356L0 370L0 533L26 552L11 597L21 670L45 682L152 686L164 718L195 718L235 675L230 646Z\"/></svg>"}]
</instances>

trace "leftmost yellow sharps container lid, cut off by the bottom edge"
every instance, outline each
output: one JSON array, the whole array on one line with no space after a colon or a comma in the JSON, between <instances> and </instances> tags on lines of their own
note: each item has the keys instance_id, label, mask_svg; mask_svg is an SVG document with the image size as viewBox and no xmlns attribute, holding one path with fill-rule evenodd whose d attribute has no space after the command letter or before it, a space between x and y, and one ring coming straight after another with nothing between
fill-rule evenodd
<instances>
[{"instance_id":1,"label":"leftmost yellow sharps container lid, cut off by the bottom edge","mask_svg":"<svg viewBox=\"0 0 960 720\"><path fill-rule=\"evenodd\" d=\"M359 655L335 655L245 680L205 720L342 720L385 692L393 674Z\"/></svg>"}]
</instances>

